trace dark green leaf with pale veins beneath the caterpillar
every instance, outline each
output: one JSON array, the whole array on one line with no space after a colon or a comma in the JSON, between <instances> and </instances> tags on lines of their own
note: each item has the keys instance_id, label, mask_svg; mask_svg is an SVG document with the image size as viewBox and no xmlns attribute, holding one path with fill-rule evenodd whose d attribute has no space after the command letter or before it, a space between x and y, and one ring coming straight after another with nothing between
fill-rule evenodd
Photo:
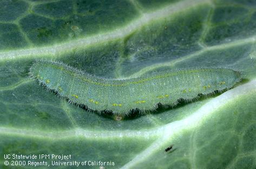
<instances>
[{"instance_id":1,"label":"dark green leaf with pale veins beneath the caterpillar","mask_svg":"<svg viewBox=\"0 0 256 169\"><path fill-rule=\"evenodd\" d=\"M114 162L105 168L255 168L255 19L251 0L0 2L0 168L15 167L4 154L71 154L61 161L79 161L78 168L100 168L81 165L89 160ZM32 81L37 59L104 78L224 67L243 80L221 94L119 121ZM25 161L18 167L35 168Z\"/></svg>"}]
</instances>

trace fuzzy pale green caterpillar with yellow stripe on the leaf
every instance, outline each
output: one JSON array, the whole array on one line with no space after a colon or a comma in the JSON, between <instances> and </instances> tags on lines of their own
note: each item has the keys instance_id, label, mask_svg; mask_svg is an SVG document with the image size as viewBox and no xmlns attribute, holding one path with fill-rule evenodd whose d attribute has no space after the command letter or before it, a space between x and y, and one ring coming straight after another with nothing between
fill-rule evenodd
<instances>
[{"instance_id":1,"label":"fuzzy pale green caterpillar with yellow stripe on the leaf","mask_svg":"<svg viewBox=\"0 0 256 169\"><path fill-rule=\"evenodd\" d=\"M180 98L191 101L199 94L229 89L241 74L226 68L162 71L134 79L104 79L55 61L36 61L32 78L71 102L91 110L110 110L127 115L132 109L154 110L158 103L176 105Z\"/></svg>"}]
</instances>

